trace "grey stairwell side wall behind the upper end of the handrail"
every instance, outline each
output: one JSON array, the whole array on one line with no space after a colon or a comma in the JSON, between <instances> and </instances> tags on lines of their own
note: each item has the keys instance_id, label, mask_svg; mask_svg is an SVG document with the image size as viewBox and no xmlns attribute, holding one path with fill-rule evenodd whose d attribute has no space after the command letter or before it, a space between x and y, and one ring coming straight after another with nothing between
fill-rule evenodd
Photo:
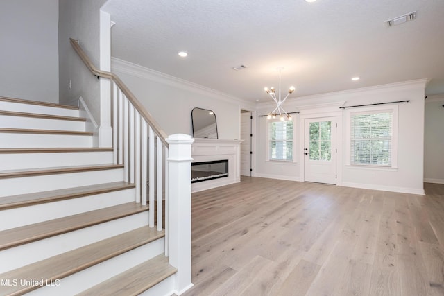
<instances>
[{"instance_id":1,"label":"grey stairwell side wall behind the upper end of the handrail","mask_svg":"<svg viewBox=\"0 0 444 296\"><path fill-rule=\"evenodd\" d=\"M100 84L85 67L69 43L80 42L92 63L100 65L100 8L106 0L59 1L59 73L60 103L76 105L80 96L85 100L94 119L100 122ZM69 80L72 89L69 89Z\"/></svg>"}]
</instances>

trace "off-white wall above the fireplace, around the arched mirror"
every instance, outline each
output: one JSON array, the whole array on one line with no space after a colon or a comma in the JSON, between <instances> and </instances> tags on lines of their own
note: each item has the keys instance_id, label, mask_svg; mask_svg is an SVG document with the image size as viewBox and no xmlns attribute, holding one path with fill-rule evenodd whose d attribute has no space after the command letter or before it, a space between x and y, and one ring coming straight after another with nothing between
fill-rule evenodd
<instances>
[{"instance_id":1,"label":"off-white wall above the fireplace, around the arched mirror","mask_svg":"<svg viewBox=\"0 0 444 296\"><path fill-rule=\"evenodd\" d=\"M239 139L236 98L115 58L111 68L167 134L192 135L191 110L200 107L216 114L219 139Z\"/></svg>"}]
</instances>

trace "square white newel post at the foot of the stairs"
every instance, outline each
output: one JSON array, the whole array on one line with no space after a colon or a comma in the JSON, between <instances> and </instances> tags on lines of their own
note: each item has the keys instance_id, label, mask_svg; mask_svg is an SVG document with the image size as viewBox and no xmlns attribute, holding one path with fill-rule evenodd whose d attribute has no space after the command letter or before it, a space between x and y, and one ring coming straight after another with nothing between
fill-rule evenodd
<instances>
[{"instance_id":1,"label":"square white newel post at the foot of the stairs","mask_svg":"<svg viewBox=\"0 0 444 296\"><path fill-rule=\"evenodd\" d=\"M169 143L169 263L178 269L176 294L191 288L191 144L187 134L173 134Z\"/></svg>"}]
</instances>

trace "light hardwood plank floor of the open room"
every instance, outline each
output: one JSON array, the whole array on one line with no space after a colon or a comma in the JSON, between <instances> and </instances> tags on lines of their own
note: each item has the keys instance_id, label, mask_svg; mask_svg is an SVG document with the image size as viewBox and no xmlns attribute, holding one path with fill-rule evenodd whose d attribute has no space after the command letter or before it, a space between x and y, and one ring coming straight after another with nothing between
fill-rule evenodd
<instances>
[{"instance_id":1,"label":"light hardwood plank floor of the open room","mask_svg":"<svg viewBox=\"0 0 444 296\"><path fill-rule=\"evenodd\" d=\"M184 295L444 295L444 185L425 189L243 177L194 193Z\"/></svg>"}]
</instances>

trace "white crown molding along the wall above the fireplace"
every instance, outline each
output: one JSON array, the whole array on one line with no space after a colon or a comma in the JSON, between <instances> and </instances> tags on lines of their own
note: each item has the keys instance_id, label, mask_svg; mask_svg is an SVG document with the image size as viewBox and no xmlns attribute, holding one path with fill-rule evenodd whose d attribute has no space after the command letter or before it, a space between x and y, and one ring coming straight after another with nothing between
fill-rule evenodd
<instances>
[{"instance_id":1,"label":"white crown molding along the wall above the fireplace","mask_svg":"<svg viewBox=\"0 0 444 296\"><path fill-rule=\"evenodd\" d=\"M198 94L203 94L204 96L212 96L213 98L219 99L221 101L225 101L228 103L234 103L236 105L248 106L254 108L254 103L243 100L241 98L237 98L234 96L230 96L229 94L225 94L223 92L216 91L215 89L211 89L210 87L204 87L203 85L198 85L194 82L189 82L184 79L180 79L160 71L155 71L153 69L149 69L139 64L134 64L132 62L128 62L126 60L121 60L119 58L111 58L111 69L112 71L117 71L120 73L126 73L131 76L136 76L139 78L144 78L148 80L152 80L155 82L162 83L164 85L169 85L171 87L177 87L180 89L184 89L190 92L196 92Z\"/></svg>"}]
</instances>

